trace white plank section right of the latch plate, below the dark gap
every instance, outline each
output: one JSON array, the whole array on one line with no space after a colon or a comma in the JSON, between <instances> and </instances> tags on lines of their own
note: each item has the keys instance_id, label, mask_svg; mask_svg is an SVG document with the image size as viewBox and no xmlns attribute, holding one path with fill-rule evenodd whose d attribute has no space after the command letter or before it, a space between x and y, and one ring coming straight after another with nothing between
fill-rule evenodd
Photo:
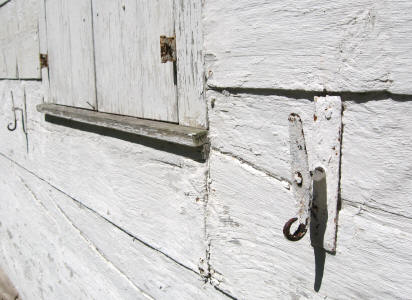
<instances>
[{"instance_id":1,"label":"white plank section right of the latch plate, below the dark gap","mask_svg":"<svg viewBox=\"0 0 412 300\"><path fill-rule=\"evenodd\" d=\"M412 98L346 102L342 198L412 216L411 111Z\"/></svg>"}]
</instances>

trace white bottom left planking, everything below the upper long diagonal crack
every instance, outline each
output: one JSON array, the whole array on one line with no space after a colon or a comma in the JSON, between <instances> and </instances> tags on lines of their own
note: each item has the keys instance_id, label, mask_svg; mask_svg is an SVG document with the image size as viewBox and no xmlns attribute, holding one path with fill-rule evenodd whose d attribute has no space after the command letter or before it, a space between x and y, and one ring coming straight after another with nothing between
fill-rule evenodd
<instances>
[{"instance_id":1,"label":"white bottom left planking, everything below the upper long diagonal crack","mask_svg":"<svg viewBox=\"0 0 412 300\"><path fill-rule=\"evenodd\" d=\"M198 274L150 249L4 157L0 157L0 166L12 176L7 187L5 178L0 178L5 192L0 196L0 236L8 241L0 260L26 297L223 297L205 285ZM33 235L29 235L31 230L35 231ZM19 272L21 269L25 271Z\"/></svg>"}]
</instances>

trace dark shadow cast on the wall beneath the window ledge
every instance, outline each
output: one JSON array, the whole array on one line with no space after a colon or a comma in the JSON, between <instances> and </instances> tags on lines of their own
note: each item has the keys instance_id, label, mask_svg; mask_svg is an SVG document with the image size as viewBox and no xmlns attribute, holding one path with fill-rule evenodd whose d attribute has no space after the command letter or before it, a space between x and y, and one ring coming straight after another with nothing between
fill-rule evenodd
<instances>
[{"instance_id":1,"label":"dark shadow cast on the wall beneath the window ledge","mask_svg":"<svg viewBox=\"0 0 412 300\"><path fill-rule=\"evenodd\" d=\"M98 125L87 124L79 121L68 120L56 116L45 115L45 120L49 123L77 129L81 131L91 132L103 136L108 136L123 141L143 145L145 147L153 148L155 150L172 153L183 156L197 162L205 162L204 147L189 147L172 142L161 141L155 138L141 136L129 132L124 132L117 129L106 128Z\"/></svg>"}]
</instances>

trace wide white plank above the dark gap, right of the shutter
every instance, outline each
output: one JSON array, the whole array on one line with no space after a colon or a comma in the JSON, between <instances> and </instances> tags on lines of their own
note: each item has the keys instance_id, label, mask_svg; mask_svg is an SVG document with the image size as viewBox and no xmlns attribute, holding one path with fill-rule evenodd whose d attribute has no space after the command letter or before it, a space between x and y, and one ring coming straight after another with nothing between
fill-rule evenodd
<instances>
[{"instance_id":1,"label":"wide white plank above the dark gap, right of the shutter","mask_svg":"<svg viewBox=\"0 0 412 300\"><path fill-rule=\"evenodd\" d=\"M205 2L208 84L412 92L412 3Z\"/></svg>"}]
</instances>

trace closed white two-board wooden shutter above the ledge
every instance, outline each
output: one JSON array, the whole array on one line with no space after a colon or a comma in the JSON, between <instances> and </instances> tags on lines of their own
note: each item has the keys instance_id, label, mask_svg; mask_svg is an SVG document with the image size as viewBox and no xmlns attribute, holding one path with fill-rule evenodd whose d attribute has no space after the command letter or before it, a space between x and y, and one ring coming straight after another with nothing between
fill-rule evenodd
<instances>
[{"instance_id":1,"label":"closed white two-board wooden shutter above the ledge","mask_svg":"<svg viewBox=\"0 0 412 300\"><path fill-rule=\"evenodd\" d=\"M51 102L178 122L173 0L47 0Z\"/></svg>"}]
</instances>

